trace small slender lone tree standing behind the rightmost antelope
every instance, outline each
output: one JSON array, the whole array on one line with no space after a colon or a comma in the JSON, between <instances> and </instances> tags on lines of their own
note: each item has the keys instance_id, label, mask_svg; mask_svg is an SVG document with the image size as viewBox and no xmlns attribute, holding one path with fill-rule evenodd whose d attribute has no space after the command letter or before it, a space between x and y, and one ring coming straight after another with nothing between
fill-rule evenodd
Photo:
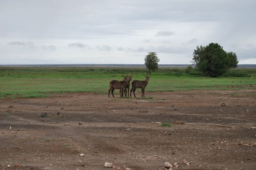
<instances>
[{"instance_id":1,"label":"small slender lone tree standing behind the rightmost antelope","mask_svg":"<svg viewBox=\"0 0 256 170\"><path fill-rule=\"evenodd\" d=\"M160 59L157 57L156 52L148 52L148 55L145 56L145 65L148 68L148 73L158 69L158 62Z\"/></svg>"}]
</instances>

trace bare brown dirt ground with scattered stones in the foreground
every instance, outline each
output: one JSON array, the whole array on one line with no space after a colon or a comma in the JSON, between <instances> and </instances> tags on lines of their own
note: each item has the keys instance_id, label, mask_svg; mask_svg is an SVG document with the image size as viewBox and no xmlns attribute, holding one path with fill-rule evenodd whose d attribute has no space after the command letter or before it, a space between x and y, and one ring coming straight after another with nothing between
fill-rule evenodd
<instances>
[{"instance_id":1,"label":"bare brown dirt ground with scattered stones in the foreground","mask_svg":"<svg viewBox=\"0 0 256 170\"><path fill-rule=\"evenodd\" d=\"M256 170L255 87L145 96L0 99L0 169Z\"/></svg>"}]
</instances>

